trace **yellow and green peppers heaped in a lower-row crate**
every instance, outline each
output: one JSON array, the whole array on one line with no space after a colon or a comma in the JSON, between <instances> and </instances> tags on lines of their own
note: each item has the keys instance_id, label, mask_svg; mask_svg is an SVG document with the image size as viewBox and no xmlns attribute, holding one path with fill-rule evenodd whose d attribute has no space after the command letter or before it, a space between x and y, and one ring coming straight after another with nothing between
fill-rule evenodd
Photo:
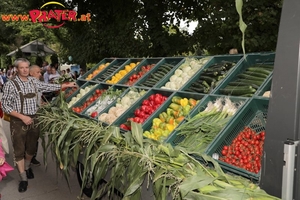
<instances>
[{"instance_id":1,"label":"yellow and green peppers heaped in a lower-row crate","mask_svg":"<svg viewBox=\"0 0 300 200\"><path fill-rule=\"evenodd\" d=\"M144 132L144 136L163 141L169 134L184 120L190 111L197 105L199 100L185 98L180 96L172 97L172 102L167 110L160 113L159 117L154 118L152 127L149 131Z\"/></svg>"}]
</instances>

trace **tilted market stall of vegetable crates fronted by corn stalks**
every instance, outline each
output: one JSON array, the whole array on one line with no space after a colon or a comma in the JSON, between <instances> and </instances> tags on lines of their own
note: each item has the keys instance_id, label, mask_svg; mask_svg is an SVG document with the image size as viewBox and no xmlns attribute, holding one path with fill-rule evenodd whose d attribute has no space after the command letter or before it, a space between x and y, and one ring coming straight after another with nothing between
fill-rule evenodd
<instances>
[{"instance_id":1,"label":"tilted market stall of vegetable crates fronted by corn stalks","mask_svg":"<svg viewBox=\"0 0 300 200\"><path fill-rule=\"evenodd\" d=\"M103 59L40 111L44 147L92 199L277 199L257 185L274 59Z\"/></svg>"}]
</instances>

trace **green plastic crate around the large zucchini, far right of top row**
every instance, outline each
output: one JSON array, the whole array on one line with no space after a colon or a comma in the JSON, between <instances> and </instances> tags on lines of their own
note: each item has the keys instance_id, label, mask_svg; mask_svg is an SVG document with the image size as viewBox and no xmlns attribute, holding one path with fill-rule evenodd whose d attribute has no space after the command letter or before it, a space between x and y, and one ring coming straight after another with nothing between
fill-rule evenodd
<instances>
[{"instance_id":1,"label":"green plastic crate around the large zucchini, far right of top row","mask_svg":"<svg viewBox=\"0 0 300 200\"><path fill-rule=\"evenodd\" d=\"M222 84L218 85L213 91L213 94L221 94L221 89L225 88L230 82L235 81L238 79L238 75L243 73L248 67L251 67L256 64L264 64L264 65L271 65L274 66L275 54L274 53L265 53L265 54L249 54L243 60L239 62L239 65L223 80ZM272 73L269 74L270 77ZM265 81L260 85L257 91L260 90L262 85L266 82L268 77ZM254 93L256 95L257 91Z\"/></svg>"}]
</instances>

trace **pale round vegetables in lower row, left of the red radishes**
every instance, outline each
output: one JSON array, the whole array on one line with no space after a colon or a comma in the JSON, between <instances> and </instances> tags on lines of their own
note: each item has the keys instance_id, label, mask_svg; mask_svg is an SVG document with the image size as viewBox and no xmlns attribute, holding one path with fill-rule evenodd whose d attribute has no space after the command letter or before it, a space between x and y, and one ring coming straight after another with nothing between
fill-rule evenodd
<instances>
[{"instance_id":1,"label":"pale round vegetables in lower row, left of the red radishes","mask_svg":"<svg viewBox=\"0 0 300 200\"><path fill-rule=\"evenodd\" d=\"M101 115L99 115L98 120L105 122L109 125L112 124L119 116L121 116L132 104L134 104L145 93L145 90L138 91L134 88L131 88L127 94L117 99L116 105L110 107L108 112L103 112Z\"/></svg>"}]
</instances>

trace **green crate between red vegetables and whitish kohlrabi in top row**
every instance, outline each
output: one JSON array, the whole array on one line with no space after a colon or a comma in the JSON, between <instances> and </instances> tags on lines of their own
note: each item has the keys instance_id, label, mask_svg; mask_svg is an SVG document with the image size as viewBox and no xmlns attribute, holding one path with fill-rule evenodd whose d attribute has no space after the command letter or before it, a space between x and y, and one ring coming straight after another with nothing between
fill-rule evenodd
<instances>
[{"instance_id":1,"label":"green crate between red vegetables and whitish kohlrabi in top row","mask_svg":"<svg viewBox=\"0 0 300 200\"><path fill-rule=\"evenodd\" d=\"M140 78L134 86L143 86L142 84L145 83L149 78L151 78L151 74L157 72L160 67L164 64L173 65L173 68L170 70L169 73L167 73L162 80L164 80L168 74L172 73L182 62L184 62L184 58L178 57L178 58L165 58L161 62L159 62L154 68L152 68L148 73L146 73L142 78ZM156 87L157 84L159 84L160 81L156 82L152 87Z\"/></svg>"}]
</instances>

